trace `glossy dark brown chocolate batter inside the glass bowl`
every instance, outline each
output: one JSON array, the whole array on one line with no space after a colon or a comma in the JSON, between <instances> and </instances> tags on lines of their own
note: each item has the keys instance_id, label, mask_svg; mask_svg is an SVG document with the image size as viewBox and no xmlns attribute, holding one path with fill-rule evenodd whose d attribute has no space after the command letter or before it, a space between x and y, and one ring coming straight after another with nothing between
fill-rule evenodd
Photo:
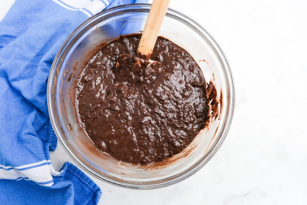
<instances>
[{"instance_id":1,"label":"glossy dark brown chocolate batter inside the glass bowl","mask_svg":"<svg viewBox=\"0 0 307 205\"><path fill-rule=\"evenodd\" d=\"M100 151L151 164L181 152L208 124L210 95L189 53L158 37L154 61L145 61L135 56L140 37L122 36L88 62L75 103L81 127Z\"/></svg>"}]
</instances>

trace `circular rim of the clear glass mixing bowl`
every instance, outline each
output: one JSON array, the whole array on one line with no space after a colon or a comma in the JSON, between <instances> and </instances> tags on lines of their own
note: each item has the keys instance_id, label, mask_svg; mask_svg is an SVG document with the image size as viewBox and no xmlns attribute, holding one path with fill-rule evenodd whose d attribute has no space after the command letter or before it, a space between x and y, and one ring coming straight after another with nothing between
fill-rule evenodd
<instances>
[{"instance_id":1,"label":"circular rim of the clear glass mixing bowl","mask_svg":"<svg viewBox=\"0 0 307 205\"><path fill-rule=\"evenodd\" d=\"M76 164L78 164L83 170L87 171L88 173L90 173L91 175L93 175L95 178L103 180L107 183L119 186L119 187L125 187L125 188L130 188L130 189L156 189L156 188L161 188L161 187L166 187L175 183L178 183L190 176L192 176L193 174L195 174L198 170L200 170L202 167L204 167L205 164L208 163L208 161L211 160L211 158L216 154L216 152L218 151L218 149L220 148L220 146L222 145L223 141L225 140L228 131L230 129L231 126L231 122L233 119L233 115L234 115L234 109L235 109L235 84L234 84L234 79L233 79L233 74L229 65L229 62L227 60L227 57L225 55L225 53L223 52L223 50L221 49L220 45L217 43L217 41L212 37L212 35L203 27L201 26L197 21L195 21L194 19L192 19L191 17L177 11L171 8L168 8L168 11L174 12L175 14L178 14L179 16L181 16L181 18L186 18L189 21L193 22L196 26L198 26L198 29L202 30L203 32L205 32L206 34L208 34L208 37L211 38L211 40L214 42L214 44L216 45L216 47L219 49L220 53L222 54L223 60L225 61L226 65L227 65L227 72L229 74L230 77L230 93L232 95L232 101L230 104L230 112L229 112L229 118L228 118L228 122L227 125L224 129L223 135L220 137L220 139L218 140L218 142L216 143L215 147L212 149L212 152L209 153L209 155L204 158L204 160L198 164L194 169L192 169L191 171L187 172L185 175L182 175L181 177L177 178L177 179L173 179L170 180L168 182L165 183L160 183L160 184L154 184L154 185L131 185L128 183L122 183L122 182L118 182L115 180L111 180L108 179L104 176L101 176L99 174L97 174L95 171L91 170L90 168L88 168L85 164L83 164L75 155L74 153L70 150L70 148L68 148L68 146L66 145L66 143L64 142L64 139L62 138L60 131L57 127L56 121L55 121L55 115L52 112L52 83L53 83L53 76L56 70L56 63L58 62L58 59L60 57L60 54L62 53L64 47L67 45L67 43L72 39L72 37L81 29L83 28L84 25L86 25L88 22L90 22L91 20L93 20L94 18L96 18L99 15L105 14L107 12L113 11L113 10L117 10L120 8L127 8L127 7L138 7L138 6L145 6L145 7L150 7L151 4L146 4L146 3L135 3L135 4L124 4L124 5L120 5L120 6L115 6L112 8L109 8L107 10L103 10L93 16L91 16L90 18L88 18L87 20L85 20L82 24L80 24L80 26L78 26L64 41L64 43L61 45L59 51L56 53L56 56L52 62L52 66L49 72L49 78L48 78L48 83L47 83L47 105L48 105L48 112L49 112L49 118L51 121L51 125L52 128L56 134L57 139L60 141L60 144L62 145L62 147L64 148L64 150L68 153L68 155L72 158L72 160L74 160L76 162ZM51 77L51 78L50 78Z\"/></svg>"}]
</instances>

